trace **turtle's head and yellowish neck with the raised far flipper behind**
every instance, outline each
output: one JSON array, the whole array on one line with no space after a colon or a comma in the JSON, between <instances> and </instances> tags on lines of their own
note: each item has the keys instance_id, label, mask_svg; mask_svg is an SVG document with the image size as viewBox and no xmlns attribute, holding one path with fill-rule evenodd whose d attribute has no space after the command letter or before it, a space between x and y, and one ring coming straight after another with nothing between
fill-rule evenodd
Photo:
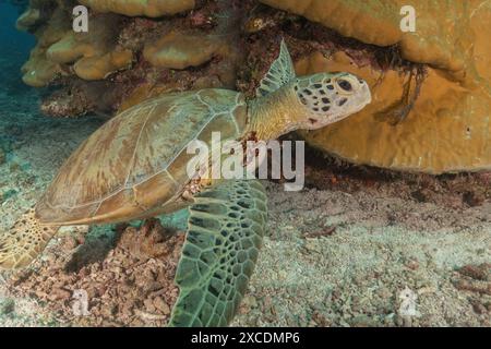
<instances>
[{"instance_id":1,"label":"turtle's head and yellowish neck with the raised far flipper behind","mask_svg":"<svg viewBox=\"0 0 491 349\"><path fill-rule=\"evenodd\" d=\"M297 77L284 40L256 97L250 104L249 128L264 140L298 129L321 129L360 111L372 100L367 82L350 73Z\"/></svg>"}]
</instances>

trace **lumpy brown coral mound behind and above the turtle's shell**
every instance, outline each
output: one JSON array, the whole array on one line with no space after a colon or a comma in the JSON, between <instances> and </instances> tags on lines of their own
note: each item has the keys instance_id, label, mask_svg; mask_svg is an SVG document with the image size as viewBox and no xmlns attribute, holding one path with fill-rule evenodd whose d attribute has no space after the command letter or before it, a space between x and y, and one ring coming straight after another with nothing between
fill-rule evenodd
<instances>
[{"instance_id":1,"label":"lumpy brown coral mound behind and above the turtle's shell","mask_svg":"<svg viewBox=\"0 0 491 349\"><path fill-rule=\"evenodd\" d=\"M77 103L73 116L92 112L94 105L100 105L97 99L105 95L109 95L104 98L108 103L101 109L113 112L163 92L235 87L242 57L238 40L240 14L247 3L81 3L93 10L89 33L71 29L70 10L76 2L70 0L32 0L17 21L20 29L29 31L37 38L23 67L23 81L34 87L62 86L43 104L45 113L69 117L67 101L87 96L94 100ZM189 12L191 9L194 10ZM177 12L184 13L169 16ZM95 86L91 81L107 82L106 92L91 92ZM77 98L69 91L82 91L83 96Z\"/></svg>"}]
</instances>

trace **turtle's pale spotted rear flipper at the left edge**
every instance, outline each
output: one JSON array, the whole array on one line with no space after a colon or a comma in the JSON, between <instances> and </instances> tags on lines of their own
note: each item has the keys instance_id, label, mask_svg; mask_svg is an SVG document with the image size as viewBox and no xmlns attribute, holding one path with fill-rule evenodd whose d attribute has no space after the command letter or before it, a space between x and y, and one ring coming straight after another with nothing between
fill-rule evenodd
<instances>
[{"instance_id":1,"label":"turtle's pale spotted rear flipper at the left edge","mask_svg":"<svg viewBox=\"0 0 491 349\"><path fill-rule=\"evenodd\" d=\"M40 225L34 208L29 209L9 231L0 233L0 268L16 269L31 264L59 228Z\"/></svg>"}]
</instances>

